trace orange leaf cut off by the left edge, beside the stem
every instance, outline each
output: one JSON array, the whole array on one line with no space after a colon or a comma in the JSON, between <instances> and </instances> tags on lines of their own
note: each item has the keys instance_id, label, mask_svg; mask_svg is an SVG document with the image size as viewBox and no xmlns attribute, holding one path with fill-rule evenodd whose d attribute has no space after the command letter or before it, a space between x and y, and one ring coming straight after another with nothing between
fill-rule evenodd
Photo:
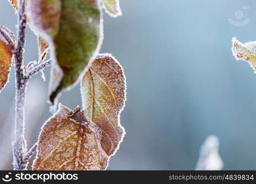
<instances>
[{"instance_id":1,"label":"orange leaf cut off by the left edge, beside the stem","mask_svg":"<svg viewBox=\"0 0 256 184\"><path fill-rule=\"evenodd\" d=\"M0 39L0 91L9 80L10 67L12 66L12 48Z\"/></svg>"}]
</instances>

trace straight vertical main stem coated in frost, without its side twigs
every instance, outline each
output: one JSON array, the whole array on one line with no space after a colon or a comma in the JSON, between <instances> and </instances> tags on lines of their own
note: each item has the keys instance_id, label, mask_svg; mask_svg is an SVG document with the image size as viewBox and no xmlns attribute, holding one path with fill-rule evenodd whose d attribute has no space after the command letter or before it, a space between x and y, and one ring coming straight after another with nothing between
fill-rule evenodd
<instances>
[{"instance_id":1,"label":"straight vertical main stem coated in frost, without its side twigs","mask_svg":"<svg viewBox=\"0 0 256 184\"><path fill-rule=\"evenodd\" d=\"M24 158L26 156L26 140L25 140L25 95L26 95L26 80L23 70L24 60L24 44L25 44L25 29L26 29L26 0L18 2L18 39L14 51L15 60L15 133L13 142L14 170L23 170L26 167Z\"/></svg>"}]
</instances>

